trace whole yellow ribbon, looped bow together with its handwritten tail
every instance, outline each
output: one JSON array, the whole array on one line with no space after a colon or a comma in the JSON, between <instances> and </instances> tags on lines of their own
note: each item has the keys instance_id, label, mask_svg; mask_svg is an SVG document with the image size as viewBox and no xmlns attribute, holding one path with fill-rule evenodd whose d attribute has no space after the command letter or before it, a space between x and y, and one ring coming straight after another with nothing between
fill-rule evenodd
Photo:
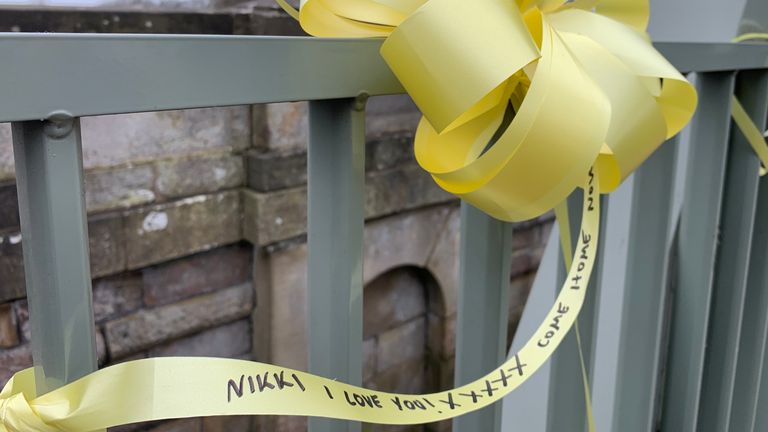
<instances>
[{"instance_id":1,"label":"whole yellow ribbon, looped bow together with its handwritten tail","mask_svg":"<svg viewBox=\"0 0 768 432\"><path fill-rule=\"evenodd\" d=\"M37 396L28 369L0 393L0 432L82 432L248 414L415 424L490 405L541 367L573 326L596 256L599 193L615 189L695 109L693 87L648 42L647 0L302 0L301 6L297 16L311 34L387 38L381 53L424 113L416 157L444 189L513 221L584 188L573 265L544 322L488 375L427 395L366 390L241 360L156 358Z\"/></svg>"}]
</instances>

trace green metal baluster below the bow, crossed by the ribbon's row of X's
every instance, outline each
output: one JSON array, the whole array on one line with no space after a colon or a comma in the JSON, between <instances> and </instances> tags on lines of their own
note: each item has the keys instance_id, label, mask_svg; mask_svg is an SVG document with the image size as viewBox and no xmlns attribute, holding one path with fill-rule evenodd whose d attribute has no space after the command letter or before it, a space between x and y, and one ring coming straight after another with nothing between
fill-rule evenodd
<instances>
[{"instance_id":1,"label":"green metal baluster below the bow, crossed by the ribbon's row of X's","mask_svg":"<svg viewBox=\"0 0 768 432\"><path fill-rule=\"evenodd\" d=\"M512 225L463 203L454 379L457 386L492 371L506 357L511 256ZM455 432L494 432L500 427L500 404L453 421Z\"/></svg>"}]
</instances>

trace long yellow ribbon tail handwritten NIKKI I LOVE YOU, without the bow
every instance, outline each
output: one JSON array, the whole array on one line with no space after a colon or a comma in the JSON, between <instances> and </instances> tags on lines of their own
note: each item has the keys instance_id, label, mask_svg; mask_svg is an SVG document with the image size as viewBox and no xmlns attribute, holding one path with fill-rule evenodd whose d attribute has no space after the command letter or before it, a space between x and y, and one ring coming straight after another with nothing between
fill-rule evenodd
<instances>
[{"instance_id":1,"label":"long yellow ribbon tail handwritten NIKKI I LOVE YOU, without the bow","mask_svg":"<svg viewBox=\"0 0 768 432\"><path fill-rule=\"evenodd\" d=\"M597 174L590 172L583 186L574 265L555 304L518 353L467 385L424 395L393 394L263 363L165 357L111 366L36 397L34 370L27 369L0 393L0 432L86 432L168 418L249 414L417 424L488 406L544 364L581 310L597 252Z\"/></svg>"}]
</instances>

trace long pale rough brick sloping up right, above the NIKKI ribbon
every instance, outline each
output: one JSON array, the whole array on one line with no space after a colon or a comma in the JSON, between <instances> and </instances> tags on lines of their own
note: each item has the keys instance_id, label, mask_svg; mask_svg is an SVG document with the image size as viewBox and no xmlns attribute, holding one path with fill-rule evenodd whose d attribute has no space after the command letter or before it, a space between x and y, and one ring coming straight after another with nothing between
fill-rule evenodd
<instances>
[{"instance_id":1,"label":"long pale rough brick sloping up right, above the NIKKI ribbon","mask_svg":"<svg viewBox=\"0 0 768 432\"><path fill-rule=\"evenodd\" d=\"M142 309L106 324L107 345L112 357L120 358L173 338L245 318L252 309L250 284L169 306Z\"/></svg>"}]
</instances>

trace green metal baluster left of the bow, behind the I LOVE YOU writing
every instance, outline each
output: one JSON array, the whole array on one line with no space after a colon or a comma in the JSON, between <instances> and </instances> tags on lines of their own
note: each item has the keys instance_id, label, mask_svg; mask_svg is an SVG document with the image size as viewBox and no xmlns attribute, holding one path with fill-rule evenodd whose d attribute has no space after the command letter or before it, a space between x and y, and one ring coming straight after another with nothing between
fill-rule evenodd
<instances>
[{"instance_id":1,"label":"green metal baluster left of the bow, behind the I LOVE YOU writing","mask_svg":"<svg viewBox=\"0 0 768 432\"><path fill-rule=\"evenodd\" d=\"M310 102L308 161L309 371L361 384L365 98ZM309 420L311 432L359 423Z\"/></svg>"}]
</instances>

